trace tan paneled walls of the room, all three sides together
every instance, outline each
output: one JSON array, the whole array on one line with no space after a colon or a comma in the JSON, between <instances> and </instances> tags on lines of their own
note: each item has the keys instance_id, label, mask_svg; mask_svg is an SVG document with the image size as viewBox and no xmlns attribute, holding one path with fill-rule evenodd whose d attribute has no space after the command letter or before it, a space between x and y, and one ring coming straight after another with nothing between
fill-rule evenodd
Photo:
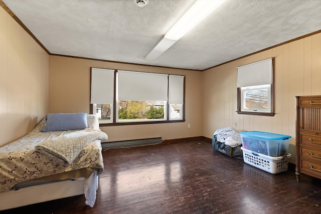
<instances>
[{"instance_id":1,"label":"tan paneled walls of the room, all three sides together","mask_svg":"<svg viewBox=\"0 0 321 214\"><path fill-rule=\"evenodd\" d=\"M48 56L3 8L0 32L0 146L28 133L48 112L89 113L90 67L186 75L185 123L103 127L109 141L212 138L216 129L236 122L239 131L291 135L290 161L295 162L294 96L321 94L321 34L197 72ZM237 114L236 68L271 57L275 116Z\"/></svg>"}]
</instances>

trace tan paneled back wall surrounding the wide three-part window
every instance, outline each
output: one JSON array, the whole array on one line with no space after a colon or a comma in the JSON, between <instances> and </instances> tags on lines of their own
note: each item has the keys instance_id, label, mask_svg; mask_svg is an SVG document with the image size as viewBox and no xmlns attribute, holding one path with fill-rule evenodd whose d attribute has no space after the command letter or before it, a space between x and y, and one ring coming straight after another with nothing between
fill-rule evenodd
<instances>
[{"instance_id":1,"label":"tan paneled back wall surrounding the wide three-part window","mask_svg":"<svg viewBox=\"0 0 321 214\"><path fill-rule=\"evenodd\" d=\"M90 67L186 75L186 121L101 127L108 141L202 136L202 72L50 56L49 112L89 113ZM191 124L191 128L188 128Z\"/></svg>"}]
</instances>

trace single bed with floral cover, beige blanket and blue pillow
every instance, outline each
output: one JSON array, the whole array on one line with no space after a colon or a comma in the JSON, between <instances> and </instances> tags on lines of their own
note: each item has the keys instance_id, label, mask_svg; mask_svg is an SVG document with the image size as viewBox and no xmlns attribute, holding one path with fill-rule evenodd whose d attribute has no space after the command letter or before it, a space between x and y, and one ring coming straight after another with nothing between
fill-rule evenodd
<instances>
[{"instance_id":1,"label":"single bed with floral cover, beige blanket and blue pillow","mask_svg":"<svg viewBox=\"0 0 321 214\"><path fill-rule=\"evenodd\" d=\"M80 194L92 207L107 139L95 115L47 114L26 136L0 147L0 210Z\"/></svg>"}]
</instances>

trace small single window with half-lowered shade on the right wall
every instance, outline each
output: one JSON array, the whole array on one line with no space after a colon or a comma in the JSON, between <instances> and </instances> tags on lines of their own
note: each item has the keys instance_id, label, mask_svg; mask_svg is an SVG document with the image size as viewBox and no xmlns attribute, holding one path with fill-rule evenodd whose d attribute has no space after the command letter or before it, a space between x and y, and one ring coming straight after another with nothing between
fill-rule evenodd
<instances>
[{"instance_id":1,"label":"small single window with half-lowered shade on the right wall","mask_svg":"<svg viewBox=\"0 0 321 214\"><path fill-rule=\"evenodd\" d=\"M239 114L274 115L273 60L271 58L237 68Z\"/></svg>"}]
</instances>

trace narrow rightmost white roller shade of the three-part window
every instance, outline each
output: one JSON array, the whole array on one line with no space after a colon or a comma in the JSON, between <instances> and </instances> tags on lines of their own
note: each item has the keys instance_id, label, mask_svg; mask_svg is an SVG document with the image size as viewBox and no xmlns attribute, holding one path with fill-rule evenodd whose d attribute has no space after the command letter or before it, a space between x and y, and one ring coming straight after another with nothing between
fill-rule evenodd
<instances>
[{"instance_id":1,"label":"narrow rightmost white roller shade of the three-part window","mask_svg":"<svg viewBox=\"0 0 321 214\"><path fill-rule=\"evenodd\" d=\"M169 104L183 104L184 76L170 75Z\"/></svg>"}]
</instances>

